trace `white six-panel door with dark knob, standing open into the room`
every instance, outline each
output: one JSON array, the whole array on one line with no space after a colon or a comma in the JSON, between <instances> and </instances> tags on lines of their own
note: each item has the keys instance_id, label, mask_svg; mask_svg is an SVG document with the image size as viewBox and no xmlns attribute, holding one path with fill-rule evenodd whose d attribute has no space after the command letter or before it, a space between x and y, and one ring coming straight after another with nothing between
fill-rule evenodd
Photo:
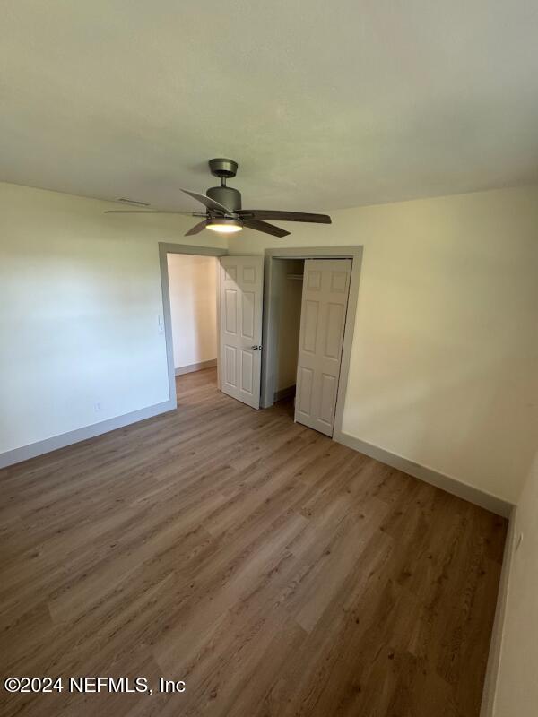
<instances>
[{"instance_id":1,"label":"white six-panel door with dark knob, standing open into the room","mask_svg":"<svg viewBox=\"0 0 538 717\"><path fill-rule=\"evenodd\" d=\"M221 390L260 407L263 256L222 256Z\"/></svg>"}]
</instances>

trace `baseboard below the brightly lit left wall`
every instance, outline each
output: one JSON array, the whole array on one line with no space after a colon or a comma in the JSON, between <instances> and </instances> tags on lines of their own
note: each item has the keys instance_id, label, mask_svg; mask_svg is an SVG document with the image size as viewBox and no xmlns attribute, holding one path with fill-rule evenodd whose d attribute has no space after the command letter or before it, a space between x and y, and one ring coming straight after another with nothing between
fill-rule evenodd
<instances>
[{"instance_id":1,"label":"baseboard below the brightly lit left wall","mask_svg":"<svg viewBox=\"0 0 538 717\"><path fill-rule=\"evenodd\" d=\"M116 428L124 428L129 426L131 423L137 423L139 420L151 419L153 416L158 416L160 413L166 413L169 410L176 408L176 402L164 401L162 403L155 403L153 406L148 406L144 409L134 410L131 413L126 413L123 416L116 416L113 419L102 420L99 423L92 423L91 426L85 426L84 428L76 428L74 431L68 431L62 433L60 436L52 436L46 438L43 441L38 441L30 445L22 445L21 448L13 448L12 451L6 451L0 454L0 468L6 468L14 463L20 463L22 461L28 461L29 458L35 458L38 455L48 454L51 451L56 451L58 448L65 448L66 445L72 445L85 441L88 438L94 436L100 436L108 431L113 431Z\"/></svg>"}]
</instances>

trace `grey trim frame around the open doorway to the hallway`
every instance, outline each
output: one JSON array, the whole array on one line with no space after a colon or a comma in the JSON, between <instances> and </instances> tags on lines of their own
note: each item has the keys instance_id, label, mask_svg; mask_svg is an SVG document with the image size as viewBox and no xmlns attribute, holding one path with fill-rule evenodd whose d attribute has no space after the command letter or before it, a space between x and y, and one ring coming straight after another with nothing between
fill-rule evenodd
<instances>
[{"instance_id":1,"label":"grey trim frame around the open doorway to the hallway","mask_svg":"<svg viewBox=\"0 0 538 717\"><path fill-rule=\"evenodd\" d=\"M176 369L174 367L174 343L172 340L172 313L170 309L170 288L168 259L169 254L190 254L195 256L226 256L228 249L221 249L217 246L195 246L190 244L172 244L166 241L159 242L159 265L161 267L161 289L162 289L162 315L164 319L164 338L166 341L166 361L169 374L169 400L173 403L170 410L178 407L176 397ZM221 306L219 301L221 272L217 272L217 383L221 388Z\"/></svg>"}]
</instances>

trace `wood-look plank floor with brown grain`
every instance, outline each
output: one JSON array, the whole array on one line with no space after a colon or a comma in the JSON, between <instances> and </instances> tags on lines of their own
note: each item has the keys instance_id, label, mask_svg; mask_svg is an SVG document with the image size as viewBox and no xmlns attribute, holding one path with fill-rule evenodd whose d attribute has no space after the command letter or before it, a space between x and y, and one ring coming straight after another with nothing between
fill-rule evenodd
<instances>
[{"instance_id":1,"label":"wood-look plank floor with brown grain","mask_svg":"<svg viewBox=\"0 0 538 717\"><path fill-rule=\"evenodd\" d=\"M214 369L178 401L0 471L3 678L153 694L0 689L2 713L478 715L506 522L218 393Z\"/></svg>"}]
</instances>

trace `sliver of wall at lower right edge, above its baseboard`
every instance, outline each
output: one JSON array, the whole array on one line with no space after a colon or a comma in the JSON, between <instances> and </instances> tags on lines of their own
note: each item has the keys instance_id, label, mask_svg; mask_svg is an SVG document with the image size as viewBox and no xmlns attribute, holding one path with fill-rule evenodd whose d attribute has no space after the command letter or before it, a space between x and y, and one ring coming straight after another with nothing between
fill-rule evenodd
<instances>
[{"instance_id":1,"label":"sliver of wall at lower right edge, above its baseboard","mask_svg":"<svg viewBox=\"0 0 538 717\"><path fill-rule=\"evenodd\" d=\"M538 453L517 502L508 585L501 596L499 665L491 676L493 687L486 695L483 717L535 717L538 709L537 516ZM490 661L495 664L495 656Z\"/></svg>"}]
</instances>

